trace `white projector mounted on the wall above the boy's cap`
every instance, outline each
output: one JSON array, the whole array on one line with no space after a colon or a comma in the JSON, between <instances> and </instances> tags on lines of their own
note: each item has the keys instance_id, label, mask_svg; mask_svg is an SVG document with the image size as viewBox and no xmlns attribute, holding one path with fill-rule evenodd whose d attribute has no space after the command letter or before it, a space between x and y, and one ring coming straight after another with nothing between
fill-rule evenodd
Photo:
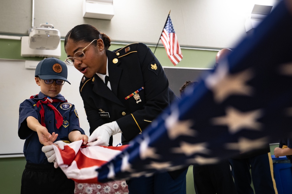
<instances>
[{"instance_id":1,"label":"white projector mounted on the wall above the boy's cap","mask_svg":"<svg viewBox=\"0 0 292 194\"><path fill-rule=\"evenodd\" d=\"M57 29L53 29L52 24L41 24L40 27L33 27L29 33L29 48L54 50L58 48L61 34Z\"/></svg>"}]
</instances>

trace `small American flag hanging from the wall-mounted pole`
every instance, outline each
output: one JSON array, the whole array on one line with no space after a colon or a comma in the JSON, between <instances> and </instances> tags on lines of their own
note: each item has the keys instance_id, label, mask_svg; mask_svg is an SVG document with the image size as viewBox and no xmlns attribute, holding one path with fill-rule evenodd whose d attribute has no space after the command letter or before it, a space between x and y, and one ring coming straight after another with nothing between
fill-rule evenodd
<instances>
[{"instance_id":1,"label":"small American flag hanging from the wall-mounted pole","mask_svg":"<svg viewBox=\"0 0 292 194\"><path fill-rule=\"evenodd\" d=\"M183 58L182 52L180 50L180 45L178 44L178 39L173 29L173 25L168 14L164 29L161 33L160 40L164 45L167 52L168 58L171 60L173 65L177 65Z\"/></svg>"}]
</instances>

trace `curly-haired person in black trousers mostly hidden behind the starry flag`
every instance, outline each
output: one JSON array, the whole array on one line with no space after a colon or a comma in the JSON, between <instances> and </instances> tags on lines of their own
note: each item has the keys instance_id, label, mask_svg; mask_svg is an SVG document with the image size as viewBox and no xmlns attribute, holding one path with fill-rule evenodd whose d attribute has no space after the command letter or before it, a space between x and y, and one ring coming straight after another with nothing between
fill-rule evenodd
<instances>
[{"instance_id":1,"label":"curly-haired person in black trousers mostly hidden behind the starry flag","mask_svg":"<svg viewBox=\"0 0 292 194\"><path fill-rule=\"evenodd\" d=\"M197 81L186 81L180 88L180 96ZM228 160L213 165L193 165L194 187L196 194L236 194Z\"/></svg>"}]
</instances>

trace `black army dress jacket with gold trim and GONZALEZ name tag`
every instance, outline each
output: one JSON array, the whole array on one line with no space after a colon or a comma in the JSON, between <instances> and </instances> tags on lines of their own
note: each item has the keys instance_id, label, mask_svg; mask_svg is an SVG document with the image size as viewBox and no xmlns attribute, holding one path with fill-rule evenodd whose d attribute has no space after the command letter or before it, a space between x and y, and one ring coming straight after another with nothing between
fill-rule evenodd
<instances>
[{"instance_id":1,"label":"black army dress jacket with gold trim and GONZALEZ name tag","mask_svg":"<svg viewBox=\"0 0 292 194\"><path fill-rule=\"evenodd\" d=\"M159 61L145 44L133 43L115 51L107 50L106 54L112 90L95 74L82 78L79 91L90 134L102 124L116 121L125 144L178 98L168 87ZM135 92L138 97L133 95Z\"/></svg>"}]
</instances>

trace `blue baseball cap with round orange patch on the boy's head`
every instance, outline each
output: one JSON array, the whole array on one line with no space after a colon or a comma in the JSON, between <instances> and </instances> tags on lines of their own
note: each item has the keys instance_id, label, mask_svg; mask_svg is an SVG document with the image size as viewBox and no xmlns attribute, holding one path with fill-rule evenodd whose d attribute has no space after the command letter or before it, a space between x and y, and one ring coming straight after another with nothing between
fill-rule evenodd
<instances>
[{"instance_id":1,"label":"blue baseball cap with round orange patch on the boy's head","mask_svg":"<svg viewBox=\"0 0 292 194\"><path fill-rule=\"evenodd\" d=\"M34 76L39 76L39 78L46 79L61 79L67 81L68 70L67 65L60 59L50 57L45 58L39 62L36 66L36 71Z\"/></svg>"}]
</instances>

